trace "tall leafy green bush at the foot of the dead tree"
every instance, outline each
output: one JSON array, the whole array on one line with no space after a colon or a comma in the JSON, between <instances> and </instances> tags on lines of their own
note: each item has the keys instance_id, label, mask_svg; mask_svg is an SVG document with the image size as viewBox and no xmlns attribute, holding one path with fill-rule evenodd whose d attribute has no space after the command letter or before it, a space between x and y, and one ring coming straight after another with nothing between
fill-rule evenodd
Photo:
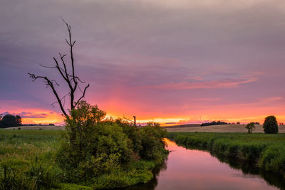
<instances>
[{"instance_id":1,"label":"tall leafy green bush at the foot of the dead tree","mask_svg":"<svg viewBox=\"0 0 285 190\"><path fill-rule=\"evenodd\" d=\"M85 101L71 111L58 152L69 181L89 180L130 160L128 138L118 125L100 123L103 117L105 112Z\"/></svg>"}]
</instances>

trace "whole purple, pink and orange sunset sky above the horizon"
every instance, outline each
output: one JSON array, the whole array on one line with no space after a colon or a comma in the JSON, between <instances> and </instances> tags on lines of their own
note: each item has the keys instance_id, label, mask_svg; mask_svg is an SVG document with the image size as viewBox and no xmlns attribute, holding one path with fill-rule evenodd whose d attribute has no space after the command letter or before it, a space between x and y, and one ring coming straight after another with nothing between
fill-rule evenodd
<instances>
[{"instance_id":1,"label":"whole purple, pink and orange sunset sky above the horizon","mask_svg":"<svg viewBox=\"0 0 285 190\"><path fill-rule=\"evenodd\" d=\"M284 0L9 0L0 3L0 113L63 124L51 89L68 53L86 100L113 117L285 122ZM67 88L61 86L61 96Z\"/></svg>"}]
</instances>

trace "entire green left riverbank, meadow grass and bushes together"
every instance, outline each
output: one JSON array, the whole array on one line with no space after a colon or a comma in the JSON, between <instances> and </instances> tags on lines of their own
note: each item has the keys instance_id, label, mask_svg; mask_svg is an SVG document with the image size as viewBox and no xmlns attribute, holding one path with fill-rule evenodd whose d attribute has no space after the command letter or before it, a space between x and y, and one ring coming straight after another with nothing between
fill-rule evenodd
<instances>
[{"instance_id":1,"label":"entire green left riverbank, meadow grass and bushes together","mask_svg":"<svg viewBox=\"0 0 285 190\"><path fill-rule=\"evenodd\" d=\"M98 110L90 121L81 114L95 107L86 106L73 111L76 120L66 131L0 130L0 189L105 189L150 181L167 157L165 130L101 121Z\"/></svg>"}]
</instances>

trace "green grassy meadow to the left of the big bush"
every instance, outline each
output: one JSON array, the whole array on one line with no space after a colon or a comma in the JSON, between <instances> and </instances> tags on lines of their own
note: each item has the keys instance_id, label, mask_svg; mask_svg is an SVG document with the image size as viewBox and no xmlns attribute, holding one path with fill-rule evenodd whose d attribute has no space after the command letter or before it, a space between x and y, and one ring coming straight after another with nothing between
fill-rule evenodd
<instances>
[{"instance_id":1,"label":"green grassy meadow to the left of the big bush","mask_svg":"<svg viewBox=\"0 0 285 190\"><path fill-rule=\"evenodd\" d=\"M0 189L58 188L58 137L58 131L1 130Z\"/></svg>"}]
</instances>

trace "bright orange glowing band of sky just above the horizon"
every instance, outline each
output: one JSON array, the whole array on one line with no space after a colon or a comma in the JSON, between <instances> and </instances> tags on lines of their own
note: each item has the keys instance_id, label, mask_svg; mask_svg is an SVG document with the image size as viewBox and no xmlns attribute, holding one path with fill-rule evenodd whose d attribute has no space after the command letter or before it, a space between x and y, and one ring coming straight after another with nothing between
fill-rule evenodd
<instances>
[{"instance_id":1,"label":"bright orange glowing band of sky just above the horizon","mask_svg":"<svg viewBox=\"0 0 285 190\"><path fill-rule=\"evenodd\" d=\"M123 105L123 104L122 104ZM195 107L185 114L183 112L168 113L163 111L143 109L127 109L128 105L122 106L119 102L112 104L105 104L99 106L100 109L107 112L107 117L123 118L124 116L133 120L133 115L137 117L137 124L144 125L147 122L159 122L162 126L169 125L182 125L182 124L199 124L202 122L211 122L221 120L224 122L264 122L264 118L268 115L275 115L278 122L285 122L284 108L283 107L258 107L255 105L221 105L219 107ZM5 106L6 107L6 106ZM59 112L53 110L44 110L34 107L26 107L25 105L15 104L9 105L11 110L1 110L0 113L9 111L12 114L19 114L25 112L26 115L22 117L23 124L49 124L63 125L63 116ZM127 107L127 108L126 108ZM0 107L1 108L1 107ZM132 114L133 113L133 114Z\"/></svg>"}]
</instances>

